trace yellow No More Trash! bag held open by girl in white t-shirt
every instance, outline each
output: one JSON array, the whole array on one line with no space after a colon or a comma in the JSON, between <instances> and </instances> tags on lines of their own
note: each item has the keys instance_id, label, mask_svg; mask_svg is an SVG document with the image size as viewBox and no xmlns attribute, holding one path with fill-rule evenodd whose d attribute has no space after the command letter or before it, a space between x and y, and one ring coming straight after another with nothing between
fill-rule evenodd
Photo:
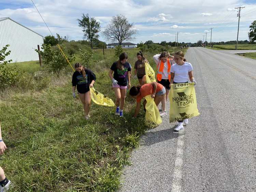
<instances>
[{"instance_id":1,"label":"yellow No More Trash! bag held open by girl in white t-shirt","mask_svg":"<svg viewBox=\"0 0 256 192\"><path fill-rule=\"evenodd\" d=\"M197 109L194 83L171 84L168 97L170 100L170 123L200 115Z\"/></svg>"}]
</instances>

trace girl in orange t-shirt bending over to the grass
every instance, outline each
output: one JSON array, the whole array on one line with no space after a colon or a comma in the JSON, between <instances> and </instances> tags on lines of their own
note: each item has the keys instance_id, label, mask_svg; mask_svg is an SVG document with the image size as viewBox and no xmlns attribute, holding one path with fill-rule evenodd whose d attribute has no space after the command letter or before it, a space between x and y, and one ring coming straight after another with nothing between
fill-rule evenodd
<instances>
[{"instance_id":1,"label":"girl in orange t-shirt bending over to the grass","mask_svg":"<svg viewBox=\"0 0 256 192\"><path fill-rule=\"evenodd\" d=\"M133 86L130 89L129 94L131 95L132 98L137 100L137 106L136 106L133 118L136 118L140 111L141 99L147 95L151 95L151 98L154 98L156 106L158 106L158 104L162 101L163 110L166 110L166 100L165 100L166 90L159 83L152 82L152 83L148 83L148 84L145 84L142 86L141 85L137 85L137 87ZM145 109L145 106L146 106L145 101L143 102L144 110L146 110Z\"/></svg>"}]
</instances>

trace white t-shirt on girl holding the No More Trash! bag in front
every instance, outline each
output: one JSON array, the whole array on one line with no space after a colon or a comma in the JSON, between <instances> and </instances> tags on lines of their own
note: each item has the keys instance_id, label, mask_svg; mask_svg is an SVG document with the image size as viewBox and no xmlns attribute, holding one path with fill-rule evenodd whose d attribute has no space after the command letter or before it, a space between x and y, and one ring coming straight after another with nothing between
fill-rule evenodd
<instances>
[{"instance_id":1,"label":"white t-shirt on girl holding the No More Trash! bag in front","mask_svg":"<svg viewBox=\"0 0 256 192\"><path fill-rule=\"evenodd\" d=\"M190 63L185 62L183 65L174 64L171 67L171 72L174 73L174 82L184 83L189 79L188 72L192 71L193 67Z\"/></svg>"}]
</instances>

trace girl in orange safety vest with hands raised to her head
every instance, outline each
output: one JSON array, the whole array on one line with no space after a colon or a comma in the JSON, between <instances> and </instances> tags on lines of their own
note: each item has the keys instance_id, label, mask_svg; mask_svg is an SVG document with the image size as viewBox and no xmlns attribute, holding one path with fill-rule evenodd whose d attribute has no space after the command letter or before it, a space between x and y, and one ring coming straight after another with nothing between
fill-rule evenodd
<instances>
[{"instance_id":1,"label":"girl in orange safety vest with hands raised to her head","mask_svg":"<svg viewBox=\"0 0 256 192\"><path fill-rule=\"evenodd\" d=\"M166 88L166 101L168 99L168 94L170 91L170 78L171 78L171 66L175 64L174 57L169 54L169 52L162 52L161 54L156 54L153 59L157 65L157 82ZM162 103L163 107L163 103ZM165 109L160 109L160 116L164 117L167 115Z\"/></svg>"}]
</instances>

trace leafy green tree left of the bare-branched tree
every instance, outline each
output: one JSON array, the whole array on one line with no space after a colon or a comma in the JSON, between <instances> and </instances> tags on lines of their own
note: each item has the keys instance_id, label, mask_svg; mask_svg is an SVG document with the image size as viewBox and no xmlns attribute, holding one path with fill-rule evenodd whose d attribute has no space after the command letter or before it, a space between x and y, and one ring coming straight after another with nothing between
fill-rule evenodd
<instances>
[{"instance_id":1,"label":"leafy green tree left of the bare-branched tree","mask_svg":"<svg viewBox=\"0 0 256 192\"><path fill-rule=\"evenodd\" d=\"M89 14L86 16L83 13L82 19L78 20L78 26L82 27L84 32L84 39L90 41L91 48L93 48L93 43L99 38L97 34L100 32L100 22L98 22L94 17L89 18Z\"/></svg>"}]
</instances>

